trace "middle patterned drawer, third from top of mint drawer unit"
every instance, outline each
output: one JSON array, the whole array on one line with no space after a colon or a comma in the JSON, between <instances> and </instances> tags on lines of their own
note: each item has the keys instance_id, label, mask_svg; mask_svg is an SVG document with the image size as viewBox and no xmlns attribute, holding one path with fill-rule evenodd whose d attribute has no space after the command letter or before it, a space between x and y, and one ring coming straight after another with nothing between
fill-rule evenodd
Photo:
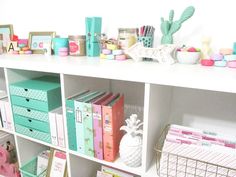
<instances>
[{"instance_id":1,"label":"middle patterned drawer, third from top of mint drawer unit","mask_svg":"<svg viewBox=\"0 0 236 177\"><path fill-rule=\"evenodd\" d=\"M35 109L12 105L13 114L17 114L23 117L32 118L39 121L49 122L48 112L42 112Z\"/></svg>"}]
</instances>

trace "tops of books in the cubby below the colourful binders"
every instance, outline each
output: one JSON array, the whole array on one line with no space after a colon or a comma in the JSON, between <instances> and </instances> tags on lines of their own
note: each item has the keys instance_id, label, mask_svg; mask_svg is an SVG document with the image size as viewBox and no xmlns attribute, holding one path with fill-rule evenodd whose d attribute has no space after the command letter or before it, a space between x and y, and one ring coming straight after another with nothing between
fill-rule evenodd
<instances>
[{"instance_id":1,"label":"tops of books in the cubby below the colourful binders","mask_svg":"<svg viewBox=\"0 0 236 177\"><path fill-rule=\"evenodd\" d=\"M107 166L102 166L101 171L97 171L96 177L134 177L133 175Z\"/></svg>"}]
</instances>

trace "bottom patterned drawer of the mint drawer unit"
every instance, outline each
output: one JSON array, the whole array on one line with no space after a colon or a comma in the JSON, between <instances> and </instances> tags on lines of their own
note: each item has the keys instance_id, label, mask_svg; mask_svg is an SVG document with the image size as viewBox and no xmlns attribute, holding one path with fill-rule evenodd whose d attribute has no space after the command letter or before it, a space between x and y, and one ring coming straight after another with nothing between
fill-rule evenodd
<instances>
[{"instance_id":1,"label":"bottom patterned drawer of the mint drawer unit","mask_svg":"<svg viewBox=\"0 0 236 177\"><path fill-rule=\"evenodd\" d=\"M46 143L51 143L51 135L50 133L45 133L36 129L32 129L29 127L25 127L19 124L15 124L15 130L17 133L20 133L22 135L29 136L31 138L35 138L41 141L44 141Z\"/></svg>"}]
</instances>

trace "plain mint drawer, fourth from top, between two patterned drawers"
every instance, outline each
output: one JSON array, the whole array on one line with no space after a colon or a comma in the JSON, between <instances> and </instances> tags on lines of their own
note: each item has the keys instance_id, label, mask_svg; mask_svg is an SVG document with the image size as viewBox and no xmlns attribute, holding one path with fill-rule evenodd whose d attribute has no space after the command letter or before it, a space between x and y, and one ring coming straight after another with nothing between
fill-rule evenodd
<instances>
[{"instance_id":1,"label":"plain mint drawer, fourth from top, between two patterned drawers","mask_svg":"<svg viewBox=\"0 0 236 177\"><path fill-rule=\"evenodd\" d=\"M34 130L39 130L45 133L50 133L49 123L38 121L32 118L23 117L20 115L14 115L15 124L26 126Z\"/></svg>"}]
</instances>

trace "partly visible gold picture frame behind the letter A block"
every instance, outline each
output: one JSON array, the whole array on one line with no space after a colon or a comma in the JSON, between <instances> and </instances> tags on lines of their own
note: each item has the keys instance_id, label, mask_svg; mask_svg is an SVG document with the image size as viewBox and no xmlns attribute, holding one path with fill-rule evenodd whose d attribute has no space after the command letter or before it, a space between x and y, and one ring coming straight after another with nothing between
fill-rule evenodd
<instances>
[{"instance_id":1,"label":"partly visible gold picture frame behind the letter A block","mask_svg":"<svg viewBox=\"0 0 236 177\"><path fill-rule=\"evenodd\" d=\"M3 41L3 52L7 51L7 44L11 40L14 32L13 32L13 25L0 25L0 34L2 36Z\"/></svg>"}]
</instances>

